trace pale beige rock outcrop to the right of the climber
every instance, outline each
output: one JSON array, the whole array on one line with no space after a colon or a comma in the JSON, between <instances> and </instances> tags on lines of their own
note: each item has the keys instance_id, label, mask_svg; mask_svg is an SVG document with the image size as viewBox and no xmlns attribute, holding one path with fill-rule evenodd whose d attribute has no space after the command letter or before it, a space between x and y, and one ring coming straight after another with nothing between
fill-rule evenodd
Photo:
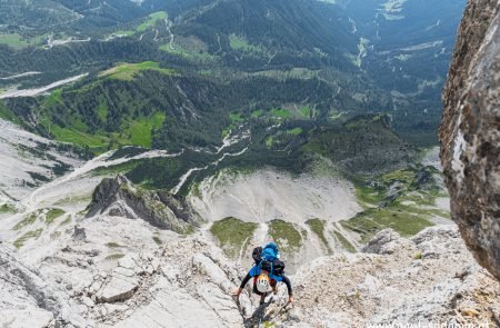
<instances>
[{"instance_id":1,"label":"pale beige rock outcrop to the right of the climber","mask_svg":"<svg viewBox=\"0 0 500 328\"><path fill-rule=\"evenodd\" d=\"M366 250L301 268L296 308L281 319L312 327L500 325L499 285L474 262L457 227L411 239L383 230Z\"/></svg>"}]
</instances>

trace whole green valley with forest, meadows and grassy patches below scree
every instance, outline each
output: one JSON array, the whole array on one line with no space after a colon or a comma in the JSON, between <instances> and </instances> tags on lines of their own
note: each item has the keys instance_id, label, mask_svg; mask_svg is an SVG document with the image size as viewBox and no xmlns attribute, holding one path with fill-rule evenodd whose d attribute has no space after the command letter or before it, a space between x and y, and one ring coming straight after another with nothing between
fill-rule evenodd
<instances>
[{"instance_id":1,"label":"whole green valley with forest, meadows and grassy patches below scree","mask_svg":"<svg viewBox=\"0 0 500 328\"><path fill-rule=\"evenodd\" d=\"M34 91L3 97L0 117L93 157L116 150L118 162L92 177L122 173L180 198L203 199L203 181L224 170L352 182L360 209L338 225L266 218L289 254L311 240L352 251L387 227L410 236L448 219L437 207L446 197L439 172L420 160L436 145L451 49L441 36L454 29L427 34L429 18L408 40L393 38L387 31L411 27L410 9L421 6L404 2L394 14L382 2L67 0L41 18L41 4L27 0L26 16L12 10L28 19L0 27L0 89ZM211 227L231 257L258 229L229 215Z\"/></svg>"}]
</instances>

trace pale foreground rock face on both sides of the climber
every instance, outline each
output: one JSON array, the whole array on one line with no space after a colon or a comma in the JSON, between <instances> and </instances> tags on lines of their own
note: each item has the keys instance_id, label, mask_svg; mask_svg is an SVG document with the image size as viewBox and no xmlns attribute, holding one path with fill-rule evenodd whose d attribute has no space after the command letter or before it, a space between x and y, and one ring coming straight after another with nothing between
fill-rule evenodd
<instances>
[{"instance_id":1,"label":"pale foreground rock face on both sides of the climber","mask_svg":"<svg viewBox=\"0 0 500 328\"><path fill-rule=\"evenodd\" d=\"M454 226L411 239L383 230L363 252L319 258L290 276L294 306L280 284L259 310L252 282L231 297L252 261L232 262L202 233L107 215L79 229L84 241L66 229L37 270L0 245L0 327L256 327L262 310L262 326L277 328L500 324L498 282Z\"/></svg>"}]
</instances>

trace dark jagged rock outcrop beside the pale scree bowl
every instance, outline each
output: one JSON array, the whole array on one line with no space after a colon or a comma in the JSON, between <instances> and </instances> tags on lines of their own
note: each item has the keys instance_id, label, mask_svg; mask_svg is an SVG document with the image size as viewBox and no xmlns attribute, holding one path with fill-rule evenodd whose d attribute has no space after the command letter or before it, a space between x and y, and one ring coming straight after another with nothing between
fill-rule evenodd
<instances>
[{"instance_id":1,"label":"dark jagged rock outcrop beside the pale scree bowl","mask_svg":"<svg viewBox=\"0 0 500 328\"><path fill-rule=\"evenodd\" d=\"M179 233L192 232L202 221L181 197L141 189L122 175L106 178L96 188L87 217L96 215L143 219L153 227Z\"/></svg>"}]
</instances>

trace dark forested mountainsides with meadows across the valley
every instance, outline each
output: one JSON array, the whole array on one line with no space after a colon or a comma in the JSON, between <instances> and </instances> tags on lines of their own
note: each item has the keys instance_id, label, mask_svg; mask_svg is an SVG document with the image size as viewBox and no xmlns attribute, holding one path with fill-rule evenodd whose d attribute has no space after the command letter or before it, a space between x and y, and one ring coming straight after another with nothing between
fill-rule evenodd
<instances>
[{"instance_id":1,"label":"dark forested mountainsides with meadows across the valley","mask_svg":"<svg viewBox=\"0 0 500 328\"><path fill-rule=\"evenodd\" d=\"M396 39L377 40L368 24L358 27L370 38L362 41L346 14L369 17L377 12L374 7L362 7L359 1L332 6L301 0L216 4L146 0L140 7L122 2L108 1L91 14L89 8L101 8L101 0L47 0L26 8L23 17L34 17L43 10L41 4L52 6L52 16L46 19L58 24L53 38L89 40L50 49L0 44L2 76L40 72L13 80L21 89L79 73L89 76L50 96L6 99L0 115L92 153L127 145L214 149L237 129L326 127L367 113L387 115L390 128L407 142L436 143L437 90L443 82L446 54L433 59L431 48L420 52L400 48L391 53L384 49L396 49ZM79 19L73 22L71 16ZM40 33L48 32L41 28L47 26L44 20L33 18L28 23L40 27ZM379 26L382 32L398 27L398 36L406 29L399 20ZM440 37L439 31L430 36ZM34 37L19 26L2 32ZM414 42L426 38L411 36ZM361 57L359 42L372 51ZM429 66L422 70L424 61ZM131 67L127 78L106 74ZM0 89L11 83L2 79ZM307 130L300 128L300 133L293 130L297 138ZM291 137L296 135L268 136L262 142L277 146L287 138L297 140Z\"/></svg>"}]
</instances>

